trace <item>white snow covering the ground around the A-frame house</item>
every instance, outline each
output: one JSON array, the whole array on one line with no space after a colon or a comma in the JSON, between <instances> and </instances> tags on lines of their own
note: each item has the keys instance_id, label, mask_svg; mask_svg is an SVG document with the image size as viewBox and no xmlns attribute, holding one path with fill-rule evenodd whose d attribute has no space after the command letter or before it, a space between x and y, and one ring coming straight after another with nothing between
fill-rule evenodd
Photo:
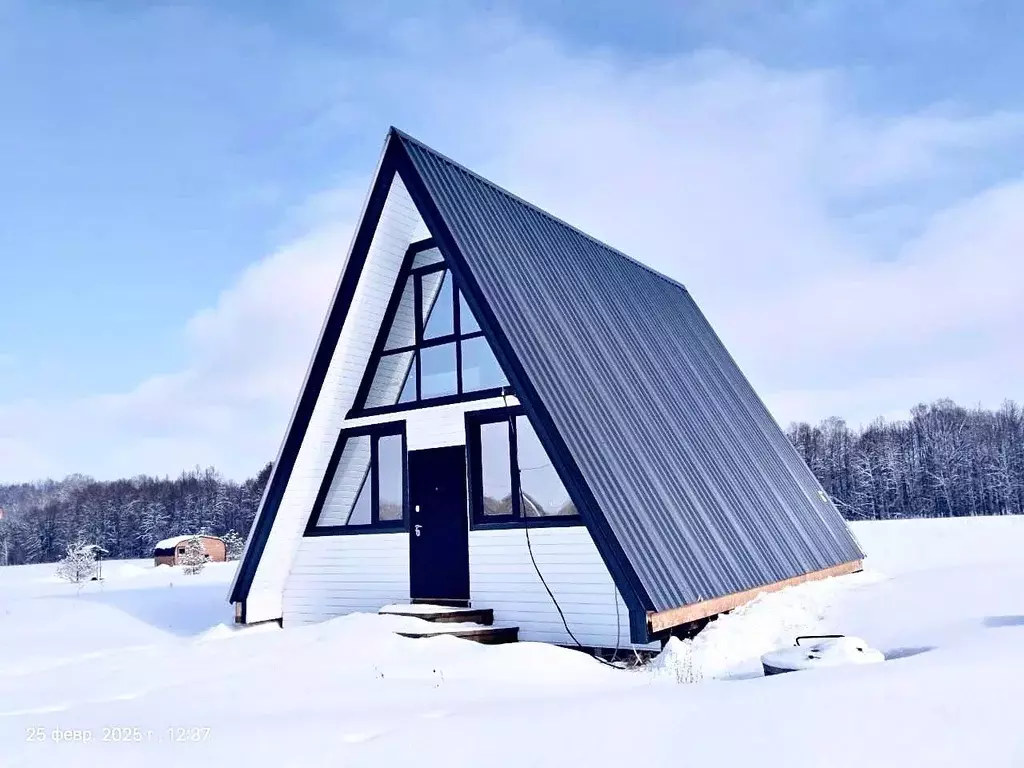
<instances>
[{"instance_id":1,"label":"white snow covering the ground around the A-frame house","mask_svg":"<svg viewBox=\"0 0 1024 768\"><path fill-rule=\"evenodd\" d=\"M643 671L393 633L415 617L239 631L230 563L112 562L81 588L0 568L0 766L1024 765L1024 518L855 531L867 572L763 596ZM899 657L759 676L809 631ZM703 682L676 682L687 659Z\"/></svg>"}]
</instances>

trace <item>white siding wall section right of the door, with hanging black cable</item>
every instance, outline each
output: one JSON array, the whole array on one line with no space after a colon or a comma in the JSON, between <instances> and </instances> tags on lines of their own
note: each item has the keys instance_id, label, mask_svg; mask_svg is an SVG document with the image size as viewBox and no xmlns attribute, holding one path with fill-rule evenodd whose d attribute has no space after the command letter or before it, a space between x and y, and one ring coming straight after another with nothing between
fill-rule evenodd
<instances>
[{"instance_id":1,"label":"white siding wall section right of the door, with hanging black cable","mask_svg":"<svg viewBox=\"0 0 1024 768\"><path fill-rule=\"evenodd\" d=\"M529 540L577 640L630 646L629 610L586 526L532 528ZM470 599L493 608L496 623L518 627L520 640L573 644L537 574L523 528L469 531L469 569Z\"/></svg>"}]
</instances>

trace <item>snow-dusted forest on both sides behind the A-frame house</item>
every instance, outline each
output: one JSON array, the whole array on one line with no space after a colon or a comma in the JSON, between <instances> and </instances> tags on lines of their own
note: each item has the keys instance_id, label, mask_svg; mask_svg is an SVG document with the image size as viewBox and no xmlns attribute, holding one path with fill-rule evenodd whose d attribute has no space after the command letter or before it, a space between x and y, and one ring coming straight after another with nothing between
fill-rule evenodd
<instances>
[{"instance_id":1,"label":"snow-dusted forest on both sides behind the A-frame house","mask_svg":"<svg viewBox=\"0 0 1024 768\"><path fill-rule=\"evenodd\" d=\"M791 441L845 517L884 520L1024 511L1024 415L1017 403L918 406L902 421L851 429L793 424ZM245 538L270 475L244 482L199 468L179 477L0 485L0 565L52 562L84 538L109 558L150 557L161 539L198 531Z\"/></svg>"}]
</instances>

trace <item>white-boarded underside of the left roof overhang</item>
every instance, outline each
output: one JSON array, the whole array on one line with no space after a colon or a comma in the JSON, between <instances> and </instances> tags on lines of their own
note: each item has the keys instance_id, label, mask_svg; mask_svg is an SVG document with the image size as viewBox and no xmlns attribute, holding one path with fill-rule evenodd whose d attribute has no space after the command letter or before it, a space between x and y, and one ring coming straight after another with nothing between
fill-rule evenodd
<instances>
[{"instance_id":1,"label":"white-boarded underside of the left roof overhang","mask_svg":"<svg viewBox=\"0 0 1024 768\"><path fill-rule=\"evenodd\" d=\"M345 414L355 398L402 258L410 244L421 238L423 231L416 206L395 176L319 399L256 568L246 604L249 623L282 616L285 582L296 550L303 542L302 530L328 460Z\"/></svg>"}]
</instances>

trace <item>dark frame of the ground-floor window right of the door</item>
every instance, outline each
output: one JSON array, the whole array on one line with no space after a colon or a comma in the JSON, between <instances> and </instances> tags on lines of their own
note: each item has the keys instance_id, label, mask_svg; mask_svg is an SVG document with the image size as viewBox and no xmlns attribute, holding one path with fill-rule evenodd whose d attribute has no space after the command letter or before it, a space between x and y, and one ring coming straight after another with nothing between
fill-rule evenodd
<instances>
[{"instance_id":1,"label":"dark frame of the ground-floor window right of the door","mask_svg":"<svg viewBox=\"0 0 1024 768\"><path fill-rule=\"evenodd\" d=\"M580 505L572 499L568 486L559 476L559 481L575 507L574 515L546 515L543 517L522 516L521 480L519 476L519 451L516 432L508 430L509 471L512 481L512 514L485 515L483 512L483 464L480 427L485 424L507 423L510 418L525 417L522 406L485 409L466 412L466 472L469 483L469 527L470 530L499 530L502 528L557 528L585 525ZM557 469L555 472L557 473Z\"/></svg>"}]
</instances>

